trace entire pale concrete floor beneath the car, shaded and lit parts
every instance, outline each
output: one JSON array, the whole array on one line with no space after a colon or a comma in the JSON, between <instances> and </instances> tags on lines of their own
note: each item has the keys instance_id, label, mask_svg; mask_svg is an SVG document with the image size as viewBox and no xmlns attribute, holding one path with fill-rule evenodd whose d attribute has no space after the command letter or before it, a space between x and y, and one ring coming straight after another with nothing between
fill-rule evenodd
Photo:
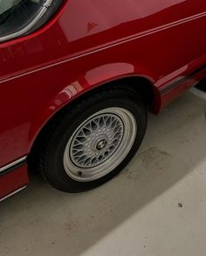
<instances>
[{"instance_id":1,"label":"entire pale concrete floor beneath the car, shaded and lit parts","mask_svg":"<svg viewBox=\"0 0 206 256\"><path fill-rule=\"evenodd\" d=\"M0 204L0 255L205 256L206 124L189 93L149 115L141 151L113 181L67 195L31 174Z\"/></svg>"}]
</instances>

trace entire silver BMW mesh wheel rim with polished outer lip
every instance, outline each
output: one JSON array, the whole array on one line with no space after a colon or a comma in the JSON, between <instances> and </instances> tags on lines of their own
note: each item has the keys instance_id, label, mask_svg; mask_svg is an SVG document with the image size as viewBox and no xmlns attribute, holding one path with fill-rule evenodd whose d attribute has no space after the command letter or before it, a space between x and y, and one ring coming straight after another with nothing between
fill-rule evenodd
<instances>
[{"instance_id":1,"label":"entire silver BMW mesh wheel rim with polished outer lip","mask_svg":"<svg viewBox=\"0 0 206 256\"><path fill-rule=\"evenodd\" d=\"M65 172L75 181L95 181L127 157L137 133L134 115L123 108L95 113L79 125L64 153Z\"/></svg>"}]
</instances>

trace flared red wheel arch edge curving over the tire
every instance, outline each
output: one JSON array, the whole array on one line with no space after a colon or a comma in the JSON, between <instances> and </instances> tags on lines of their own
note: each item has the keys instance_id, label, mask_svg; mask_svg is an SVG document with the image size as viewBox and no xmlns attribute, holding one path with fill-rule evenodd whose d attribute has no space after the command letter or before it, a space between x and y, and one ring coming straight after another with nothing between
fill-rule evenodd
<instances>
[{"instance_id":1,"label":"flared red wheel arch edge curving over the tire","mask_svg":"<svg viewBox=\"0 0 206 256\"><path fill-rule=\"evenodd\" d=\"M144 74L143 68L137 68L131 63L108 63L88 70L84 75L79 75L76 81L68 82L61 87L58 94L40 111L38 116L32 120L30 131L30 150L39 132L45 127L52 117L54 117L65 106L78 99L79 96L86 95L93 89L98 89L108 82L115 82L128 77L141 77L153 84L153 79ZM137 85L138 86L138 85ZM154 88L154 94L158 96L158 90ZM160 98L158 98L160 100Z\"/></svg>"}]
</instances>

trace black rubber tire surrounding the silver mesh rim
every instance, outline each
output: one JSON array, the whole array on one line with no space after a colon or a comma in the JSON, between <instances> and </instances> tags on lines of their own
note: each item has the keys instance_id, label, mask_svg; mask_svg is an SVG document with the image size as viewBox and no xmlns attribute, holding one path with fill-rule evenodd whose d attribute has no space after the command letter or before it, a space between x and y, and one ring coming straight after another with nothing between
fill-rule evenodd
<instances>
[{"instance_id":1,"label":"black rubber tire surrounding the silver mesh rim","mask_svg":"<svg viewBox=\"0 0 206 256\"><path fill-rule=\"evenodd\" d=\"M88 117L107 108L122 108L131 112L138 125L134 144L127 156L108 174L94 181L76 181L66 174L63 164L65 147L73 132ZM96 188L111 180L127 166L141 146L147 128L148 115L141 97L133 90L125 87L105 89L86 97L81 103L68 108L64 114L56 119L52 127L46 132L41 141L41 150L38 156L38 169L53 187L66 192L82 192ZM127 129L127 127L126 127ZM112 157L112 156L111 156Z\"/></svg>"}]
</instances>

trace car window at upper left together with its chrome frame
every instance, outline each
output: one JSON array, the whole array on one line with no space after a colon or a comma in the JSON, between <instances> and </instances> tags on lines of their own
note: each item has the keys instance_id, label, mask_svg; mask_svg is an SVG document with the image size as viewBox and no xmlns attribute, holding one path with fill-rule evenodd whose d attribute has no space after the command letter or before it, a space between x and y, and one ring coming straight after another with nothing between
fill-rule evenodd
<instances>
[{"instance_id":1,"label":"car window at upper left together with its chrome frame","mask_svg":"<svg viewBox=\"0 0 206 256\"><path fill-rule=\"evenodd\" d=\"M30 32L45 12L52 10L52 4L57 2L62 1L0 0L0 41Z\"/></svg>"}]
</instances>

